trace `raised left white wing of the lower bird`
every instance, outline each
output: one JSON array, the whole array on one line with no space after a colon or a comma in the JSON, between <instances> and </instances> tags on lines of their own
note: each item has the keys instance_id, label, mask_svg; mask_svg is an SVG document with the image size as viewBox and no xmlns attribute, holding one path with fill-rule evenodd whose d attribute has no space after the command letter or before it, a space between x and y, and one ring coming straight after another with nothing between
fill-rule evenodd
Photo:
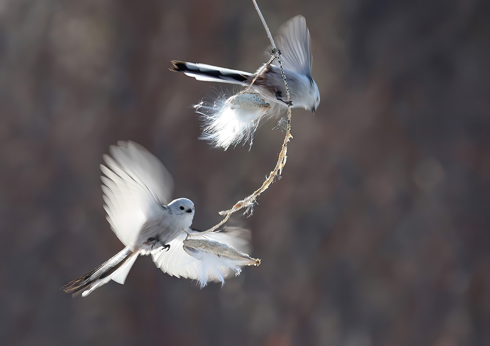
<instances>
[{"instance_id":1,"label":"raised left white wing of the lower bird","mask_svg":"<svg viewBox=\"0 0 490 346\"><path fill-rule=\"evenodd\" d=\"M100 165L104 209L112 231L133 247L145 221L170 200L172 176L156 157L134 142L119 141Z\"/></svg>"}]
</instances>

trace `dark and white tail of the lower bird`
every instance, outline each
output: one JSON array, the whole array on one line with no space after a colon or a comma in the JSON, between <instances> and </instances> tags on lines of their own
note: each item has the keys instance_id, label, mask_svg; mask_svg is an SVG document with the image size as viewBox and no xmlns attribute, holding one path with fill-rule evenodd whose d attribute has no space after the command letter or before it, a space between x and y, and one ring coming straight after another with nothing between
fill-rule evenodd
<instances>
[{"instance_id":1,"label":"dark and white tail of the lower bird","mask_svg":"<svg viewBox=\"0 0 490 346\"><path fill-rule=\"evenodd\" d=\"M133 253L129 248L125 248L90 273L67 283L61 287L61 290L72 294L73 297L80 293L82 297L85 297L111 279L123 284L139 254L139 252Z\"/></svg>"}]
</instances>

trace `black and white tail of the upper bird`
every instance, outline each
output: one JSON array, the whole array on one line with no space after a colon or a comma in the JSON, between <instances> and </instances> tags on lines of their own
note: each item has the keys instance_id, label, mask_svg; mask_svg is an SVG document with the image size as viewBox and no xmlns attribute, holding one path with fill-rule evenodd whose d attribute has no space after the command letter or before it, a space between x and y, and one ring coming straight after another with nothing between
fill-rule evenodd
<instances>
[{"instance_id":1,"label":"black and white tail of the upper bird","mask_svg":"<svg viewBox=\"0 0 490 346\"><path fill-rule=\"evenodd\" d=\"M247 81L253 77L252 73L239 71L236 69L225 69L206 64L185 63L183 61L172 60L171 71L183 72L197 80L207 82L220 82L230 84L246 85Z\"/></svg>"}]
</instances>

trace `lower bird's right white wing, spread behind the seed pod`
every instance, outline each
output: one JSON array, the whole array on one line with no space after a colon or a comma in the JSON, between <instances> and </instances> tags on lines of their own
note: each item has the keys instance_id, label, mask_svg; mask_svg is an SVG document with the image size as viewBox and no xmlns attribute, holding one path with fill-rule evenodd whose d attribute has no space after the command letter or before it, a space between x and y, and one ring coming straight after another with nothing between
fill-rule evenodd
<instances>
[{"instance_id":1,"label":"lower bird's right white wing, spread behind the seed pod","mask_svg":"<svg viewBox=\"0 0 490 346\"><path fill-rule=\"evenodd\" d=\"M198 231L191 232L198 233ZM151 254L155 265L163 272L174 277L198 280L202 287L205 286L207 281L222 282L223 277L226 277L233 271L231 267L221 263L218 263L218 266L220 267L218 271L215 270L216 268L203 267L201 260L184 251L183 241L186 236L187 233L184 231L179 233L175 239L168 243L168 245L170 245L168 251L162 250L161 248L152 251ZM246 252L249 244L249 232L237 228L228 228L218 233L196 235L193 236L192 239L213 240L232 246L239 251Z\"/></svg>"}]
</instances>

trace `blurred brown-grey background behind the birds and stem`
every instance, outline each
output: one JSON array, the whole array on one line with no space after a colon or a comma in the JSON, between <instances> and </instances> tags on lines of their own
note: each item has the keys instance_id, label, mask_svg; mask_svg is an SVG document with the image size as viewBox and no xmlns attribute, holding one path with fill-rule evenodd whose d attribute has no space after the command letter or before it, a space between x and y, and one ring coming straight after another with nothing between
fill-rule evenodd
<instances>
[{"instance_id":1,"label":"blurred brown-grey background behind the birds and stem","mask_svg":"<svg viewBox=\"0 0 490 346\"><path fill-rule=\"evenodd\" d=\"M253 71L268 40L251 1L0 1L3 345L490 345L489 2L260 5L272 33L306 17L321 93L234 219L262 264L199 290L143 257L72 299L122 248L98 168L117 140L165 163L198 229L262 184L277 122L212 149L192 105L217 86L168 68Z\"/></svg>"}]
</instances>

